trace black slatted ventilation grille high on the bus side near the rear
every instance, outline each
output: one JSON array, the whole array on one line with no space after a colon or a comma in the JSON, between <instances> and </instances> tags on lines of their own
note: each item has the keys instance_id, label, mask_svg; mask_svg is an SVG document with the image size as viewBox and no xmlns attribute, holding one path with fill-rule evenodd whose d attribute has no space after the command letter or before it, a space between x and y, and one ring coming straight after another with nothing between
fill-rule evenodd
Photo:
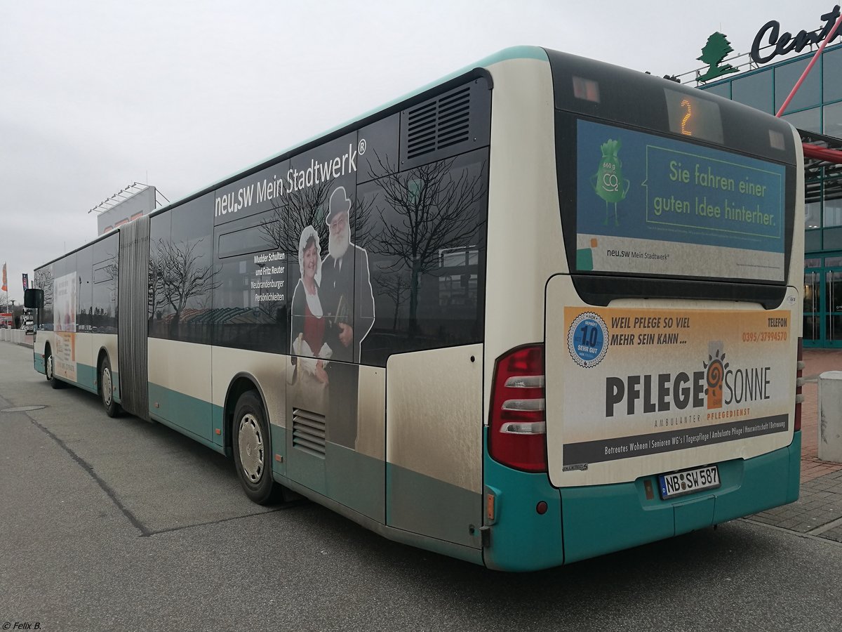
<instances>
[{"instance_id":1,"label":"black slatted ventilation grille high on the bus side near the rear","mask_svg":"<svg viewBox=\"0 0 842 632\"><path fill-rule=\"evenodd\" d=\"M471 87L465 86L409 110L407 158L412 160L471 136Z\"/></svg>"}]
</instances>

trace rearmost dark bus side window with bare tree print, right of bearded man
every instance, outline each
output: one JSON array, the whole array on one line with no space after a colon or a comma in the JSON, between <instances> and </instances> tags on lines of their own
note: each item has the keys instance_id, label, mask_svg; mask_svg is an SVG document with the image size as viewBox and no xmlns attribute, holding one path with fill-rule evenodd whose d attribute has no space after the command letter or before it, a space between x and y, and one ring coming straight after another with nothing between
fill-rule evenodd
<instances>
[{"instance_id":1,"label":"rearmost dark bus side window with bare tree print, right of bearded man","mask_svg":"<svg viewBox=\"0 0 842 632\"><path fill-rule=\"evenodd\" d=\"M481 341L488 150L386 174L358 195L376 305L360 362Z\"/></svg>"}]
</instances>

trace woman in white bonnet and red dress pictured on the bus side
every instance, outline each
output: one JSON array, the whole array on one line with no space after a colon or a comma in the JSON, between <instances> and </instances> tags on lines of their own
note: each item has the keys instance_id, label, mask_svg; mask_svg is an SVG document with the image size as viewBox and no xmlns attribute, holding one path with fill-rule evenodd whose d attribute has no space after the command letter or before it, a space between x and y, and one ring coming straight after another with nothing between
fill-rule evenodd
<instances>
[{"instance_id":1,"label":"woman in white bonnet and red dress pictured on the bus side","mask_svg":"<svg viewBox=\"0 0 842 632\"><path fill-rule=\"evenodd\" d=\"M326 335L331 326L324 318L318 296L322 280L322 252L316 229L307 226L298 241L298 265L301 279L292 295L291 351L296 361L295 386L308 406L327 405L328 373L325 367L333 355ZM323 410L323 408L322 408Z\"/></svg>"}]
</instances>

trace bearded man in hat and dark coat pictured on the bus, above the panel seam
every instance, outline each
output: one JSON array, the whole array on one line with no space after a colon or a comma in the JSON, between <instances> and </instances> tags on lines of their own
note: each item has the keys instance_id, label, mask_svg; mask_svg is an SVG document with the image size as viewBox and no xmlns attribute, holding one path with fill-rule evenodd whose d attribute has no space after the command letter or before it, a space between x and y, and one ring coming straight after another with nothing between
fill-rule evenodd
<instances>
[{"instance_id":1,"label":"bearded man in hat and dark coat pictured on the bus, above the panel seam","mask_svg":"<svg viewBox=\"0 0 842 632\"><path fill-rule=\"evenodd\" d=\"M360 345L374 324L368 253L351 243L350 211L345 187L336 187L325 217L330 238L328 256L322 261L320 292L325 314L335 325L337 341L331 348L333 360L338 362L360 362Z\"/></svg>"}]
</instances>

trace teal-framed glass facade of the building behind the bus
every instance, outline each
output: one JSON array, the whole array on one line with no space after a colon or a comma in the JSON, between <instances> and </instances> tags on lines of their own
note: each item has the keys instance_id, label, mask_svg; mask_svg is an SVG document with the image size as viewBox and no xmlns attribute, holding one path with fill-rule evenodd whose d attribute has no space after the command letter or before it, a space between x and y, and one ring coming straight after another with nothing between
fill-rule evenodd
<instances>
[{"instance_id":1,"label":"teal-framed glass facade of the building behind the bus","mask_svg":"<svg viewBox=\"0 0 842 632\"><path fill-rule=\"evenodd\" d=\"M815 51L699 88L774 115ZM842 45L828 46L783 115L803 142L842 149ZM842 165L806 160L804 345L842 347Z\"/></svg>"}]
</instances>

